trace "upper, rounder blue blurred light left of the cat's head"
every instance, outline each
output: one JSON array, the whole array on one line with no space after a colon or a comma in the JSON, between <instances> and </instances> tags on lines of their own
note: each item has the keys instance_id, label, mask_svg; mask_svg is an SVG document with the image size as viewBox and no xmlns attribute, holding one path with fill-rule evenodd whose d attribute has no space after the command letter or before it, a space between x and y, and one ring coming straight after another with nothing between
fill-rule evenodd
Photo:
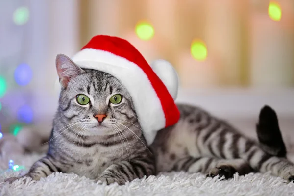
<instances>
[{"instance_id":1,"label":"upper, rounder blue blurred light left of the cat's head","mask_svg":"<svg viewBox=\"0 0 294 196\"><path fill-rule=\"evenodd\" d=\"M20 86L25 86L29 84L33 77L33 72L29 65L23 63L17 66L14 71L14 79L16 83Z\"/></svg>"}]
</instances>

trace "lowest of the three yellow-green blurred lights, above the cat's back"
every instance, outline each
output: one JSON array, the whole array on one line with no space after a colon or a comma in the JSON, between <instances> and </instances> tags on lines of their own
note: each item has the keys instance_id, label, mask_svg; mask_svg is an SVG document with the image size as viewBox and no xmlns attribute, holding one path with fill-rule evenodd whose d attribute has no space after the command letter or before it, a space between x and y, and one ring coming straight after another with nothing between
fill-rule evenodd
<instances>
[{"instance_id":1,"label":"lowest of the three yellow-green blurred lights, above the cat's back","mask_svg":"<svg viewBox=\"0 0 294 196\"><path fill-rule=\"evenodd\" d=\"M191 55L197 61L204 61L207 57L206 44L201 40L194 40L191 44Z\"/></svg>"}]
</instances>

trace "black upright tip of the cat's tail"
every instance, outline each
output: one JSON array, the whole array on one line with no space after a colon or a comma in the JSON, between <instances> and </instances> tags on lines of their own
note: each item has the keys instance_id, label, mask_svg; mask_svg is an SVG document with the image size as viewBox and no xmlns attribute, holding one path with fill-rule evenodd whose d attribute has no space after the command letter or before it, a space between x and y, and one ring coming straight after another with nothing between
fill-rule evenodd
<instances>
[{"instance_id":1,"label":"black upright tip of the cat's tail","mask_svg":"<svg viewBox=\"0 0 294 196\"><path fill-rule=\"evenodd\" d=\"M260 147L270 155L286 157L287 151L282 138L276 112L265 105L259 114L256 133Z\"/></svg>"}]
</instances>

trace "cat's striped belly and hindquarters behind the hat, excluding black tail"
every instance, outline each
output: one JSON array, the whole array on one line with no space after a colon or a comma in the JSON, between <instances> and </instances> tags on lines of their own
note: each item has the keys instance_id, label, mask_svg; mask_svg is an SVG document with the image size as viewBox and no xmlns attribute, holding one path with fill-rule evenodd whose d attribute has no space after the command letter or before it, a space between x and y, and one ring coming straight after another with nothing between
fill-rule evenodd
<instances>
[{"instance_id":1,"label":"cat's striped belly and hindquarters behind the hat, excluding black tail","mask_svg":"<svg viewBox=\"0 0 294 196\"><path fill-rule=\"evenodd\" d=\"M180 121L160 130L151 145L157 170L203 172L232 177L234 172L268 172L292 180L294 165L272 156L228 123L191 105L178 105Z\"/></svg>"}]
</instances>

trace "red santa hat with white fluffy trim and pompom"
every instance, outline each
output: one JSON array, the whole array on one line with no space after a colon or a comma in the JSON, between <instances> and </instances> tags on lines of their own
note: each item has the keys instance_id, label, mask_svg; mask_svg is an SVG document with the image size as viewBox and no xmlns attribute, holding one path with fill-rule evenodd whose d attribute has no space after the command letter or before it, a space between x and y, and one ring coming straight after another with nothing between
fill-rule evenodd
<instances>
[{"instance_id":1,"label":"red santa hat with white fluffy trim and pompom","mask_svg":"<svg viewBox=\"0 0 294 196\"><path fill-rule=\"evenodd\" d=\"M81 68L94 69L116 77L129 91L144 136L150 145L158 130L180 118L174 100L178 76L165 60L147 63L128 41L97 35L72 60Z\"/></svg>"}]
</instances>

